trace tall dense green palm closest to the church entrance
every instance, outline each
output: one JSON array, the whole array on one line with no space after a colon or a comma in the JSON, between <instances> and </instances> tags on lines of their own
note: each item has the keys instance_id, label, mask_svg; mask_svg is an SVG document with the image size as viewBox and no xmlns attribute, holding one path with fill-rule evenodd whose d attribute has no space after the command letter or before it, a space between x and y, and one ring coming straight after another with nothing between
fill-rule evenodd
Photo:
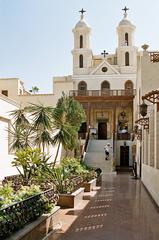
<instances>
[{"instance_id":1,"label":"tall dense green palm closest to the church entrance","mask_svg":"<svg viewBox=\"0 0 159 240\"><path fill-rule=\"evenodd\" d=\"M81 105L74 99L67 97L64 93L58 100L53 113L54 132L53 144L57 144L57 152L54 160L54 166L59 154L60 144L66 150L73 150L77 147L78 130L83 120L85 112Z\"/></svg>"}]
</instances>

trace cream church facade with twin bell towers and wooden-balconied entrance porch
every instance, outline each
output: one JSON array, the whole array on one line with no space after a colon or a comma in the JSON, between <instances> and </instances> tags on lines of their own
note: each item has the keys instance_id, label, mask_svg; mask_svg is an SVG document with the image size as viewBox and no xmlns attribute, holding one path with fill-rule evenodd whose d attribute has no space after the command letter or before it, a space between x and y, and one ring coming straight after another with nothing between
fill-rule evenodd
<instances>
[{"instance_id":1,"label":"cream church facade with twin bell towers and wooden-balconied entrance porch","mask_svg":"<svg viewBox=\"0 0 159 240\"><path fill-rule=\"evenodd\" d=\"M115 52L108 54L104 50L99 55L93 54L91 28L81 11L80 20L73 29L72 90L69 88L68 94L86 111L87 122L80 130L81 136L90 128L96 139L112 140L116 165L129 167L133 165L138 51L134 43L135 26L127 19L126 10L117 26Z\"/></svg>"}]
</instances>

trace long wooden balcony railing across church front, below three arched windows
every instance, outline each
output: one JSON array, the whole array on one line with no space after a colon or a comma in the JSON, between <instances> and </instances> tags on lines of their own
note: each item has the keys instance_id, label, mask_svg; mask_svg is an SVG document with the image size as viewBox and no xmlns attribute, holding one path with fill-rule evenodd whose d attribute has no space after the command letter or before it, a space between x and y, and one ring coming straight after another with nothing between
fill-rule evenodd
<instances>
[{"instance_id":1,"label":"long wooden balcony railing across church front, below three arched windows","mask_svg":"<svg viewBox=\"0 0 159 240\"><path fill-rule=\"evenodd\" d=\"M87 97L113 97L113 96L135 96L135 89L118 89L118 90L70 90L70 97L87 96Z\"/></svg>"}]
</instances>

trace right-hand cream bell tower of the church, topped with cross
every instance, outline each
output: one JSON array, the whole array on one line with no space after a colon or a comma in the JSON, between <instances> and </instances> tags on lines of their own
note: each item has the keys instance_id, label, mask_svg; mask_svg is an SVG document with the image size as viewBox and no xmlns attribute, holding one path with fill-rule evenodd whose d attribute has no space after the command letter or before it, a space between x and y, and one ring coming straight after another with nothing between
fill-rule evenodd
<instances>
[{"instance_id":1,"label":"right-hand cream bell tower of the church, topped with cross","mask_svg":"<svg viewBox=\"0 0 159 240\"><path fill-rule=\"evenodd\" d=\"M124 11L124 18L117 27L117 61L121 73L132 73L133 69L134 72L136 71L137 62L137 48L134 45L134 32L136 27L127 19L127 11L129 8L125 7L122 10Z\"/></svg>"}]
</instances>

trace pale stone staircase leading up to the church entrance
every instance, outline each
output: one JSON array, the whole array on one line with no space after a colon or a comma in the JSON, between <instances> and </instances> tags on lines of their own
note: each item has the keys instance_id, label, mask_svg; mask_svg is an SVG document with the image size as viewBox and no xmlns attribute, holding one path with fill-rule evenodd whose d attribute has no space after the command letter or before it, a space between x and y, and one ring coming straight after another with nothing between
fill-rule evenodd
<instances>
[{"instance_id":1,"label":"pale stone staircase leading up to the church entrance","mask_svg":"<svg viewBox=\"0 0 159 240\"><path fill-rule=\"evenodd\" d=\"M113 149L110 149L110 159L109 161L105 160L105 150L104 146L110 143L113 146L111 139L109 140L89 140L87 151L85 154L84 161L85 163L93 168L101 168L102 173L111 173L113 171Z\"/></svg>"}]
</instances>

